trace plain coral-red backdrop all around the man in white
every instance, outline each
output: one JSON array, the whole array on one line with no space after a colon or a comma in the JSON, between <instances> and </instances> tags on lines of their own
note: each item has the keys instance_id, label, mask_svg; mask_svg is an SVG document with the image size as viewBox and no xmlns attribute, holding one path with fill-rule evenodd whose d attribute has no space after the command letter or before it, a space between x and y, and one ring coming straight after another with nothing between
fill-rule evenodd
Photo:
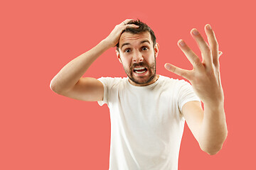
<instances>
[{"instance_id":1,"label":"plain coral-red backdrop all around the man in white","mask_svg":"<svg viewBox=\"0 0 256 170\"><path fill-rule=\"evenodd\" d=\"M219 42L228 138L210 156L185 125L178 169L255 169L254 1L1 1L0 169L108 169L110 113L97 102L55 94L50 80L126 18L147 23L159 42L157 74L169 62L192 69L177 42L201 57L191 37L207 40L209 23ZM84 77L126 77L114 48Z\"/></svg>"}]
</instances>

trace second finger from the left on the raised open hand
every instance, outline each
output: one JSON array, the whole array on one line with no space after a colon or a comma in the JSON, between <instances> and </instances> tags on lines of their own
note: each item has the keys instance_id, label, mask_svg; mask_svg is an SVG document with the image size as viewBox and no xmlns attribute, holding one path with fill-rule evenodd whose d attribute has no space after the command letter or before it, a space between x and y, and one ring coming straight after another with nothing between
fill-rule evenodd
<instances>
[{"instance_id":1,"label":"second finger from the left on the raised open hand","mask_svg":"<svg viewBox=\"0 0 256 170\"><path fill-rule=\"evenodd\" d=\"M188 45L186 45L186 43L183 40L178 40L178 47L181 48L182 52L186 55L186 57L188 58L189 62L191 62L193 67L196 68L202 66L202 63L198 56L195 54L195 52L193 52L193 50L190 49L190 47L188 47Z\"/></svg>"}]
</instances>

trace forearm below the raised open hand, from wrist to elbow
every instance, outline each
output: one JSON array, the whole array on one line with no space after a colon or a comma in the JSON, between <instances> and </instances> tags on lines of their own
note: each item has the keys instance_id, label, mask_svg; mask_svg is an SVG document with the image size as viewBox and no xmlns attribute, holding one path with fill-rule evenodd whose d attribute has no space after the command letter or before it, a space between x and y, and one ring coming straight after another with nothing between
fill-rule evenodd
<instances>
[{"instance_id":1,"label":"forearm below the raised open hand, from wrist to elbow","mask_svg":"<svg viewBox=\"0 0 256 170\"><path fill-rule=\"evenodd\" d=\"M216 154L228 135L224 104L204 105L203 122L199 132L199 145L208 154Z\"/></svg>"}]
</instances>

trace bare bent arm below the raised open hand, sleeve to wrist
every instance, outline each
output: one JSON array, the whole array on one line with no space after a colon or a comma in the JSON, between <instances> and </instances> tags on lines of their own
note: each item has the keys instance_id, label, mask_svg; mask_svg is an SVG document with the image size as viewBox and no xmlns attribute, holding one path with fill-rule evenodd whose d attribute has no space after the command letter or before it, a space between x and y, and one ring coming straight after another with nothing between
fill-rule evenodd
<instances>
[{"instance_id":1,"label":"bare bent arm below the raised open hand, sleeve to wrist","mask_svg":"<svg viewBox=\"0 0 256 170\"><path fill-rule=\"evenodd\" d=\"M228 135L225 112L217 103L204 108L205 111L200 101L190 101L183 106L182 113L201 149L213 155L220 151Z\"/></svg>"}]
</instances>

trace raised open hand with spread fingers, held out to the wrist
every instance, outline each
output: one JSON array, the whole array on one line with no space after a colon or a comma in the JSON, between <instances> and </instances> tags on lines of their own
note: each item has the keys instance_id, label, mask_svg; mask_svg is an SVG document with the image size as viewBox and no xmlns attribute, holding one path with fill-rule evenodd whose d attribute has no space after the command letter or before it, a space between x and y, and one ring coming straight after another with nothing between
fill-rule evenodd
<instances>
[{"instance_id":1,"label":"raised open hand with spread fingers, held out to the wrist","mask_svg":"<svg viewBox=\"0 0 256 170\"><path fill-rule=\"evenodd\" d=\"M170 72L174 72L179 76L188 79L193 86L196 94L201 98L203 103L213 104L224 101L223 88L220 82L220 63L219 57L222 52L218 51L218 42L215 38L210 25L205 26L208 43L203 40L201 34L193 28L191 30L192 37L196 40L201 50L203 61L191 50L183 40L178 41L178 47L181 48L188 60L193 65L192 70L178 68L172 64L166 63L164 67Z\"/></svg>"}]
</instances>

